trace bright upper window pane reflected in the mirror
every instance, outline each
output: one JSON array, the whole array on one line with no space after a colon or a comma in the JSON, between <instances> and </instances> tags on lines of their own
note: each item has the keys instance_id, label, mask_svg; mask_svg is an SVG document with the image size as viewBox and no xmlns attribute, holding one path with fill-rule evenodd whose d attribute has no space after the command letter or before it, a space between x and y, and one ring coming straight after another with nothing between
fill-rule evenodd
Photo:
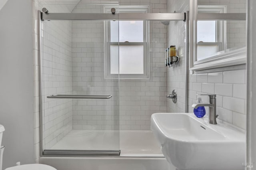
<instances>
[{"instance_id":1,"label":"bright upper window pane reflected in the mirror","mask_svg":"<svg viewBox=\"0 0 256 170\"><path fill-rule=\"evenodd\" d=\"M216 42L216 21L197 22L197 42Z\"/></svg>"}]
</instances>

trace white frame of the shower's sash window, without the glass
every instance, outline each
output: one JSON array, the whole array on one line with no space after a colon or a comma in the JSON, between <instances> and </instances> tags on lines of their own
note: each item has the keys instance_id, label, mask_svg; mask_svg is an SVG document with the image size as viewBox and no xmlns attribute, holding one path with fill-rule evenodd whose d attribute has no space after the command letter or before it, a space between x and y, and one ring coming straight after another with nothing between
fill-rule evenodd
<instances>
[{"instance_id":1,"label":"white frame of the shower's sash window, without the glass","mask_svg":"<svg viewBox=\"0 0 256 170\"><path fill-rule=\"evenodd\" d=\"M104 6L104 12L111 12L113 6ZM148 13L148 6L116 6L116 13ZM149 79L149 22L143 21L143 42L111 42L110 21L104 22L104 78L105 79ZM143 45L144 74L111 74L110 45Z\"/></svg>"}]
</instances>

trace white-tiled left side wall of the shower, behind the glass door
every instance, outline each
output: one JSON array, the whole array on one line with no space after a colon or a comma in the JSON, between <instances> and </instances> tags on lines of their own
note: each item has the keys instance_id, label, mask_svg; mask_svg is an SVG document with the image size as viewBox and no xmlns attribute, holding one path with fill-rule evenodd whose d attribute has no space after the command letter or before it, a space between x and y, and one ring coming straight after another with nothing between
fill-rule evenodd
<instances>
[{"instance_id":1,"label":"white-tiled left side wall of the shower, behind the glass door","mask_svg":"<svg viewBox=\"0 0 256 170\"><path fill-rule=\"evenodd\" d=\"M37 40L37 10L41 1L33 2L33 20L36 22L34 29ZM70 12L65 6L47 6L49 11ZM43 109L43 143L49 149L70 130L72 130L72 99L47 99L52 94L72 93L72 23L68 21L44 21L42 24L42 109ZM37 41L36 41L37 42ZM35 42L35 45L37 43ZM35 73L35 114L39 118L38 109L38 47L34 48L34 73ZM39 133L39 125L36 125ZM39 142L39 134L35 135ZM36 143L36 147L39 144ZM38 149L38 148L37 148ZM36 153L38 154L38 153Z\"/></svg>"}]
</instances>

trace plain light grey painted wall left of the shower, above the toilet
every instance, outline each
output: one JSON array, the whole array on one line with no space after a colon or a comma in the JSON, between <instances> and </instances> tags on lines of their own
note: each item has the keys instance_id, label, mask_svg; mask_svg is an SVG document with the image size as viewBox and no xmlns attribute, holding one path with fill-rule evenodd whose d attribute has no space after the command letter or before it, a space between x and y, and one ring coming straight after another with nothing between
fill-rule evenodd
<instances>
[{"instance_id":1,"label":"plain light grey painted wall left of the shower, above the toilet","mask_svg":"<svg viewBox=\"0 0 256 170\"><path fill-rule=\"evenodd\" d=\"M3 168L34 163L32 1L9 0L0 11L0 124Z\"/></svg>"}]
</instances>

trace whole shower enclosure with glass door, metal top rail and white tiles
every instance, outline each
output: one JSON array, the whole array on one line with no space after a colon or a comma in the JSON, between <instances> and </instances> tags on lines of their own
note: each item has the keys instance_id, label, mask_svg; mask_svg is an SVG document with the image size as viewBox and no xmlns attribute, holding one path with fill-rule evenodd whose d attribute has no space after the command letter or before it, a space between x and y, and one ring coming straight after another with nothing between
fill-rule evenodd
<instances>
[{"instance_id":1,"label":"whole shower enclosure with glass door, metal top rail and white tiles","mask_svg":"<svg viewBox=\"0 0 256 170\"><path fill-rule=\"evenodd\" d=\"M42 4L42 156L162 156L150 132L150 115L166 112L162 23L184 22L186 14L130 4Z\"/></svg>"}]
</instances>

